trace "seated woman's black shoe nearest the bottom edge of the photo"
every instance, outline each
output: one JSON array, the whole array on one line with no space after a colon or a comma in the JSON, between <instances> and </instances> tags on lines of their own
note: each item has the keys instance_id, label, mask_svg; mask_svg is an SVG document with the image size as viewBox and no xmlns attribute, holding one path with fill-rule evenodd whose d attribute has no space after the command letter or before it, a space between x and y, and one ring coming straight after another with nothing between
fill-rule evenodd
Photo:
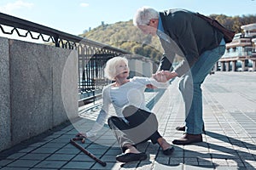
<instances>
[{"instance_id":1,"label":"seated woman's black shoe nearest the bottom edge of the photo","mask_svg":"<svg viewBox=\"0 0 256 170\"><path fill-rule=\"evenodd\" d=\"M147 155L143 153L124 153L115 157L116 161L128 162L128 161L143 161L147 159Z\"/></svg>"}]
</instances>

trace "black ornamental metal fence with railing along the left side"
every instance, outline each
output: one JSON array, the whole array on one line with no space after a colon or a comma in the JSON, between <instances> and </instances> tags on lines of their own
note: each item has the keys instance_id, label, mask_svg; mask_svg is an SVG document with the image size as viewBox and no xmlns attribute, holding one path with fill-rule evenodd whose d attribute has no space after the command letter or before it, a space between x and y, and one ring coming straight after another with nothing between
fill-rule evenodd
<instances>
[{"instance_id":1,"label":"black ornamental metal fence with railing along the left side","mask_svg":"<svg viewBox=\"0 0 256 170\"><path fill-rule=\"evenodd\" d=\"M28 20L0 13L0 29L3 34L28 37L31 40L48 42L59 48L76 49L79 54L79 105L84 105L101 94L108 84L103 77L103 66L108 59L120 54L129 54L125 50L57 31Z\"/></svg>"}]
</instances>

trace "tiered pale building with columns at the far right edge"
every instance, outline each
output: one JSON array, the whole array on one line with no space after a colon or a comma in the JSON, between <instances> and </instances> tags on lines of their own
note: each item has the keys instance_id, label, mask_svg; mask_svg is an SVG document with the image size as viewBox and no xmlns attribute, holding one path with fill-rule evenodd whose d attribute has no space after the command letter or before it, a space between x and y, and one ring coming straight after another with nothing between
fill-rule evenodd
<instances>
[{"instance_id":1,"label":"tiered pale building with columns at the far right edge","mask_svg":"<svg viewBox=\"0 0 256 170\"><path fill-rule=\"evenodd\" d=\"M256 71L256 23L241 26L233 41L226 44L225 54L218 60L220 71Z\"/></svg>"}]
</instances>

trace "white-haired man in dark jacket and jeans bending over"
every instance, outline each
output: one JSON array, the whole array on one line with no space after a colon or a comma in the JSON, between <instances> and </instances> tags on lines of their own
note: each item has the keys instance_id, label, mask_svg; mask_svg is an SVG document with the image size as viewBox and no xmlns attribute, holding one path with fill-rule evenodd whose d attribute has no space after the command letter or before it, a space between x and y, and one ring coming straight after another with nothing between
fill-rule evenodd
<instances>
[{"instance_id":1,"label":"white-haired man in dark jacket and jeans bending over","mask_svg":"<svg viewBox=\"0 0 256 170\"><path fill-rule=\"evenodd\" d=\"M158 12L154 8L139 8L133 23L143 33L158 36L164 49L158 71L154 78L166 80L180 77L179 90L185 105L185 126L177 127L185 133L173 144L191 144L202 141L204 122L202 118L201 84L213 65L224 54L224 35L202 20L197 14L184 9ZM172 70L175 56L183 60ZM166 81L165 80L165 81Z\"/></svg>"}]
</instances>

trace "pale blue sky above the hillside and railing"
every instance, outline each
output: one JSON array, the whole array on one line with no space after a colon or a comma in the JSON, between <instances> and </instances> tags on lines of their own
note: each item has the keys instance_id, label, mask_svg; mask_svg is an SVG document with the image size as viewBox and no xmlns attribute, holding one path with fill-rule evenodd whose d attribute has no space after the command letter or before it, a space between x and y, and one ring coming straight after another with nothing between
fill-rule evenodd
<instances>
[{"instance_id":1,"label":"pale blue sky above the hillside and railing","mask_svg":"<svg viewBox=\"0 0 256 170\"><path fill-rule=\"evenodd\" d=\"M256 14L256 0L1 0L0 12L73 35L133 18L137 8L185 8L201 14Z\"/></svg>"}]
</instances>

